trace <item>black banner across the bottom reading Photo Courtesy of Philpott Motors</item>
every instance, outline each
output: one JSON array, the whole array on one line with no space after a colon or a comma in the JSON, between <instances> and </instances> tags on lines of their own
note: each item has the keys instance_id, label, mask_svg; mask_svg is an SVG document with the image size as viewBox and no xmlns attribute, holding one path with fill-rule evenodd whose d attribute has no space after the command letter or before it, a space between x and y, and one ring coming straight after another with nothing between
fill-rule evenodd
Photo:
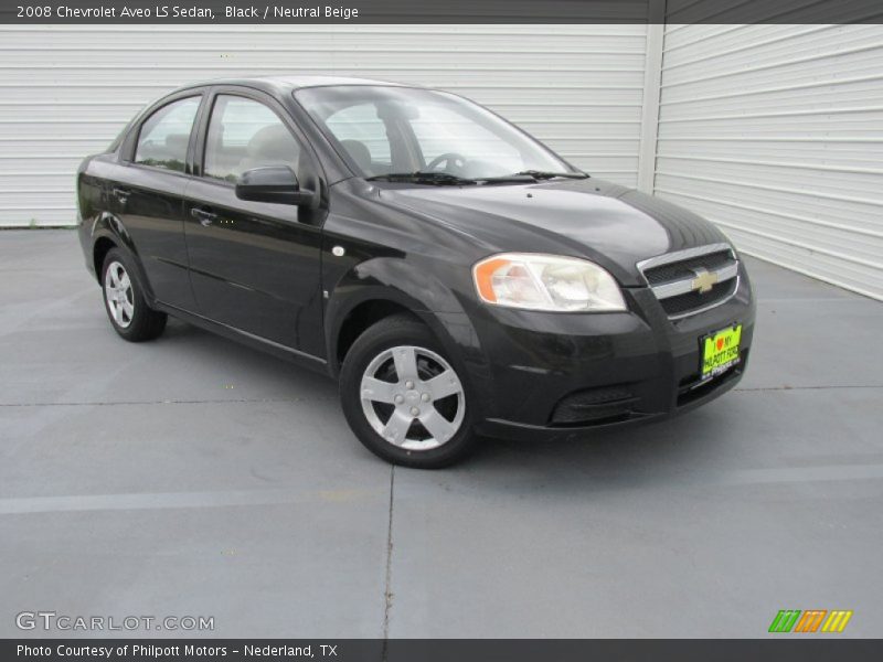
<instances>
[{"instance_id":1,"label":"black banner across the bottom reading Photo Courtesy of Philpott Motors","mask_svg":"<svg viewBox=\"0 0 883 662\"><path fill-rule=\"evenodd\" d=\"M883 641L837 636L783 636L762 640L2 640L6 662L211 662L255 660L323 662L829 662L881 660Z\"/></svg>"}]
</instances>

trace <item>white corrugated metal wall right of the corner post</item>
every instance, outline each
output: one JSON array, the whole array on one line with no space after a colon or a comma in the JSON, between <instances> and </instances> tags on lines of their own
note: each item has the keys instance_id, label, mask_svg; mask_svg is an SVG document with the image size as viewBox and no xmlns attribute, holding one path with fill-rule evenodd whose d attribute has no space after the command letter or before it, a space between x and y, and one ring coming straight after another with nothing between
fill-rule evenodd
<instances>
[{"instance_id":1,"label":"white corrugated metal wall right of the corner post","mask_svg":"<svg viewBox=\"0 0 883 662\"><path fill-rule=\"evenodd\" d=\"M656 193L883 299L883 29L671 25Z\"/></svg>"}]
</instances>

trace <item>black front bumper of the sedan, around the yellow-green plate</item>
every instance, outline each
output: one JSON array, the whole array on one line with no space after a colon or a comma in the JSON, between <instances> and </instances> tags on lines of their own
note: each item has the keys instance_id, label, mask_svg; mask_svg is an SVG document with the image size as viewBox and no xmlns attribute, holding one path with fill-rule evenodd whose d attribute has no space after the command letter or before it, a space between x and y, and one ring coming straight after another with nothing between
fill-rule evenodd
<instances>
[{"instance_id":1,"label":"black front bumper of the sedan, around the yellow-green plate","mask_svg":"<svg viewBox=\"0 0 883 662\"><path fill-rule=\"evenodd\" d=\"M648 421L698 407L731 389L747 365L755 323L751 284L726 302L670 320L649 288L626 290L628 312L547 313L482 306L471 311L481 369L470 377L478 431L555 438ZM700 381L700 339L742 324L741 362ZM476 364L474 364L476 365Z\"/></svg>"}]
</instances>

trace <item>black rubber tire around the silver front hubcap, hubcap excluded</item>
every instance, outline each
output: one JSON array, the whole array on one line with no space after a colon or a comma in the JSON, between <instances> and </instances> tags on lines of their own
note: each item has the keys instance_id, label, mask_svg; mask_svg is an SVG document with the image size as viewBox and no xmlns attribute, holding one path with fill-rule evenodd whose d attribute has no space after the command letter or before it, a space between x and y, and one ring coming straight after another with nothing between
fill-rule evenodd
<instances>
[{"instance_id":1,"label":"black rubber tire around the silver front hubcap, hubcap excluded","mask_svg":"<svg viewBox=\"0 0 883 662\"><path fill-rule=\"evenodd\" d=\"M371 427L362 410L360 392L365 369L377 354L396 345L416 345L443 356L456 371L464 386L466 412L460 428L449 441L438 448L407 450L393 446ZM340 399L343 415L359 440L373 453L395 465L417 469L439 469L461 460L474 446L475 398L470 397L466 374L459 362L451 360L450 354L432 331L416 320L390 318L371 327L357 339L343 361L340 373Z\"/></svg>"}]
</instances>

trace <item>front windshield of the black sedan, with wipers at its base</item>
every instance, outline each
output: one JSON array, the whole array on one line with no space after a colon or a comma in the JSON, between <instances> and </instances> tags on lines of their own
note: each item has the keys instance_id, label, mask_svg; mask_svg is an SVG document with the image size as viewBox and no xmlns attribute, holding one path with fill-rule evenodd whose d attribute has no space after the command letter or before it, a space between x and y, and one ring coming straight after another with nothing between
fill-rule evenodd
<instances>
[{"instance_id":1,"label":"front windshield of the black sedan, with wipers at its base","mask_svg":"<svg viewBox=\"0 0 883 662\"><path fill-rule=\"evenodd\" d=\"M422 184L585 177L467 99L412 87L343 85L295 93L366 179Z\"/></svg>"}]
</instances>

